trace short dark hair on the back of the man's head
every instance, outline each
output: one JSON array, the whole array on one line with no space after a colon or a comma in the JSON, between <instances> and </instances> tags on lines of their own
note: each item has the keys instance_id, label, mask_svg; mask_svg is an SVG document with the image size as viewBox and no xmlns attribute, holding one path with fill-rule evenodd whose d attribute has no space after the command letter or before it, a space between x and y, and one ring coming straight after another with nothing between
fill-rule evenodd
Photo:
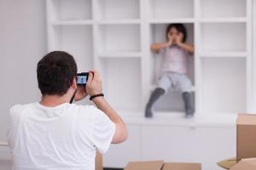
<instances>
[{"instance_id":1,"label":"short dark hair on the back of the man's head","mask_svg":"<svg viewBox=\"0 0 256 170\"><path fill-rule=\"evenodd\" d=\"M38 88L43 95L64 95L76 77L78 67L71 54L53 51L38 62Z\"/></svg>"}]
</instances>

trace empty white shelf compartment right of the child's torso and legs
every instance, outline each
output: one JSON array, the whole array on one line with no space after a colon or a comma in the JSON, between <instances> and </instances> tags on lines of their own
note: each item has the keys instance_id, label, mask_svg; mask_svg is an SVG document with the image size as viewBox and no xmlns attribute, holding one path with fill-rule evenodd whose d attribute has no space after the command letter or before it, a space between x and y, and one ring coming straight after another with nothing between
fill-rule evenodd
<instances>
[{"instance_id":1,"label":"empty white shelf compartment right of the child's torso and legs","mask_svg":"<svg viewBox=\"0 0 256 170\"><path fill-rule=\"evenodd\" d=\"M247 59L201 59L202 112L247 111Z\"/></svg>"}]
</instances>

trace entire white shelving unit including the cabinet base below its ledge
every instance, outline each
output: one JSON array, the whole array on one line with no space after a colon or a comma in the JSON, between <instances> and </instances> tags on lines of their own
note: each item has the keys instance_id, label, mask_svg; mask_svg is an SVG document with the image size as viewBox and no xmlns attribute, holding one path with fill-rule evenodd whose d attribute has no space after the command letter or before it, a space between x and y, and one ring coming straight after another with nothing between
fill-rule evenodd
<instances>
[{"instance_id":1,"label":"entire white shelving unit including the cabinet base below its ledge","mask_svg":"<svg viewBox=\"0 0 256 170\"><path fill-rule=\"evenodd\" d=\"M256 0L47 0L49 51L73 54L79 71L99 70L106 98L127 123L130 138L108 152L106 167L164 159L216 170L217 161L236 154L236 114L256 111L255 11ZM192 120L183 118L177 90L158 101L154 119L143 117L160 77L161 56L150 44L165 41L169 23L183 23L195 45ZM184 148L186 141L195 145Z\"/></svg>"}]
</instances>

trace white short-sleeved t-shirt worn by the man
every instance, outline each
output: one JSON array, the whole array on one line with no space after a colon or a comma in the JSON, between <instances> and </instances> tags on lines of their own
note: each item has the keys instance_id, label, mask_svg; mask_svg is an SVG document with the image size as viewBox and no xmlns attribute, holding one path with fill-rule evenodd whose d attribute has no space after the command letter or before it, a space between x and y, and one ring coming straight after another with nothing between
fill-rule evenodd
<instances>
[{"instance_id":1,"label":"white short-sleeved t-shirt worn by the man","mask_svg":"<svg viewBox=\"0 0 256 170\"><path fill-rule=\"evenodd\" d=\"M96 150L106 152L114 133L95 106L32 103L10 109L7 138L15 170L94 170Z\"/></svg>"}]
</instances>

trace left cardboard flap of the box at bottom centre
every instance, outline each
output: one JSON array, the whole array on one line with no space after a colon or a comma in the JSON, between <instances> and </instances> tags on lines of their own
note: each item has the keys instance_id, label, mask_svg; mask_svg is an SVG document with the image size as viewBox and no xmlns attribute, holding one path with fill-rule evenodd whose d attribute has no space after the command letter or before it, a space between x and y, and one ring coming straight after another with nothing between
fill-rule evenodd
<instances>
[{"instance_id":1,"label":"left cardboard flap of the box at bottom centre","mask_svg":"<svg viewBox=\"0 0 256 170\"><path fill-rule=\"evenodd\" d=\"M125 170L160 170L164 161L131 161L125 167Z\"/></svg>"}]
</instances>

